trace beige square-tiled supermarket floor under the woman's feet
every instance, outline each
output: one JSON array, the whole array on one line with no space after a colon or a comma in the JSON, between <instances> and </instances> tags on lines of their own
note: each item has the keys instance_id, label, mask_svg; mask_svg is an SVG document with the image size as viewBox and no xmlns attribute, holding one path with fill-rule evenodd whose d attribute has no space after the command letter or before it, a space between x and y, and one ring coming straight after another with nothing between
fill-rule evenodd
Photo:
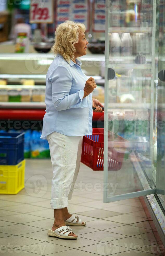
<instances>
[{"instance_id":1,"label":"beige square-tiled supermarket floor under the woman's feet","mask_svg":"<svg viewBox=\"0 0 165 256\"><path fill-rule=\"evenodd\" d=\"M69 201L86 226L70 226L77 240L49 237L54 214L50 207L50 160L27 160L25 189L17 195L0 195L0 254L49 256L151 256L162 255L138 198L103 203L103 172L81 164ZM91 187L90 187L91 185ZM88 186L88 187L87 187Z\"/></svg>"}]
</instances>

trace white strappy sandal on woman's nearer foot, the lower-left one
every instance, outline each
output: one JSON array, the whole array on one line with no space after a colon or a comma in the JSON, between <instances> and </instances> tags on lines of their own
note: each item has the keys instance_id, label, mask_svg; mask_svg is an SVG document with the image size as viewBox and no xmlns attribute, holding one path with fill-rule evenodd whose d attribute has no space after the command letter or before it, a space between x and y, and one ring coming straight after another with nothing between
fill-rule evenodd
<instances>
[{"instance_id":1,"label":"white strappy sandal on woman's nearer foot, the lower-left one","mask_svg":"<svg viewBox=\"0 0 165 256\"><path fill-rule=\"evenodd\" d=\"M71 230L72 229L69 228L68 226L62 226L62 227L60 227L58 229L55 229L54 231L52 229L48 229L48 233L47 234L48 234L48 236L55 236L55 237L59 237L59 238L77 239L77 237L75 237L75 236L68 236L69 233L71 233Z\"/></svg>"}]
</instances>

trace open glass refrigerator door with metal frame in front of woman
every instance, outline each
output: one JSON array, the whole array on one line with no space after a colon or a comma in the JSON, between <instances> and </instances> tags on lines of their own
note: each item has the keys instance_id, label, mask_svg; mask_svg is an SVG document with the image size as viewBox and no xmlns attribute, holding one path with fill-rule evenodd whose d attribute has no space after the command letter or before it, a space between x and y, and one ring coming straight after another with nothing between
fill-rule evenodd
<instances>
[{"instance_id":1,"label":"open glass refrigerator door with metal frame in front of woman","mask_svg":"<svg viewBox=\"0 0 165 256\"><path fill-rule=\"evenodd\" d=\"M105 5L104 202L112 202L156 193L159 6Z\"/></svg>"}]
</instances>

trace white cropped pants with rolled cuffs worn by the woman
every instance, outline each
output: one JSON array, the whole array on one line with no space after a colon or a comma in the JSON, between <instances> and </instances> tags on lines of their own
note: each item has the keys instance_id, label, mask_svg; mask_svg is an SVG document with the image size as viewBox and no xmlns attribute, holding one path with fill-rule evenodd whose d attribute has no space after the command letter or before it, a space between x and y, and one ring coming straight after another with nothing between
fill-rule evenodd
<instances>
[{"instance_id":1,"label":"white cropped pants with rolled cuffs worn by the woman","mask_svg":"<svg viewBox=\"0 0 165 256\"><path fill-rule=\"evenodd\" d=\"M52 132L47 136L53 167L50 205L52 209L68 207L80 169L83 136Z\"/></svg>"}]
</instances>

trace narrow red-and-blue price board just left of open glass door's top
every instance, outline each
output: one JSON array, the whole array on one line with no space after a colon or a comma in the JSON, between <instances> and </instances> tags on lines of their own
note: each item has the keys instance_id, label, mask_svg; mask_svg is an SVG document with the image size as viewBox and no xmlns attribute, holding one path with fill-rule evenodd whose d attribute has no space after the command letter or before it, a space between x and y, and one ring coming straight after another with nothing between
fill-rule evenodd
<instances>
[{"instance_id":1,"label":"narrow red-and-blue price board just left of open glass door's top","mask_svg":"<svg viewBox=\"0 0 165 256\"><path fill-rule=\"evenodd\" d=\"M105 32L105 0L94 0L92 4L92 31Z\"/></svg>"}]
</instances>

